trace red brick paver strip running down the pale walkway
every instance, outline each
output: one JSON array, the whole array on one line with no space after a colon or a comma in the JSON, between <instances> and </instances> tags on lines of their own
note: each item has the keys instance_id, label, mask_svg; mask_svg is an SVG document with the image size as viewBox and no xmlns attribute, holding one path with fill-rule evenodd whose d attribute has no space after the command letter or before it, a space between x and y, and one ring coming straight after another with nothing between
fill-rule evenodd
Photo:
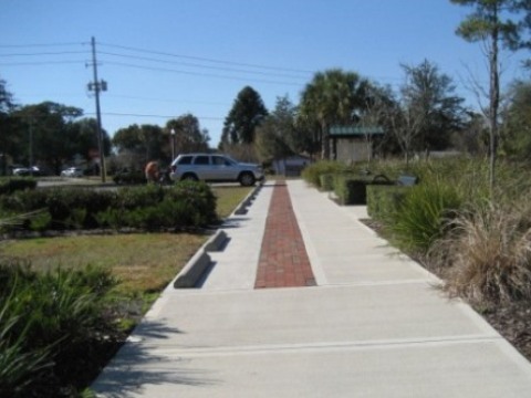
<instances>
[{"instance_id":1,"label":"red brick paver strip running down the pale walkway","mask_svg":"<svg viewBox=\"0 0 531 398\"><path fill-rule=\"evenodd\" d=\"M266 220L256 289L314 286L310 259L296 223L290 193L277 182Z\"/></svg>"}]
</instances>

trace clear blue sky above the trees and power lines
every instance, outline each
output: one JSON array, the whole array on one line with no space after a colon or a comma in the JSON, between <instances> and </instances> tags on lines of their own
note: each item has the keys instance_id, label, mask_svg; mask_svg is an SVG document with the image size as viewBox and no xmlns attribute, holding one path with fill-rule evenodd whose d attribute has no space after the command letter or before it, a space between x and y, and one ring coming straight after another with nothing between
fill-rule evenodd
<instances>
[{"instance_id":1,"label":"clear blue sky above the trees and power lines","mask_svg":"<svg viewBox=\"0 0 531 398\"><path fill-rule=\"evenodd\" d=\"M449 0L0 0L0 78L19 104L94 116L94 36L111 135L191 113L216 146L246 85L272 109L279 96L298 103L313 73L332 67L397 88L400 64L427 59L477 106L465 83L469 71L487 82L485 56L455 34L469 12ZM527 76L527 55L503 57L506 82Z\"/></svg>"}]
</instances>

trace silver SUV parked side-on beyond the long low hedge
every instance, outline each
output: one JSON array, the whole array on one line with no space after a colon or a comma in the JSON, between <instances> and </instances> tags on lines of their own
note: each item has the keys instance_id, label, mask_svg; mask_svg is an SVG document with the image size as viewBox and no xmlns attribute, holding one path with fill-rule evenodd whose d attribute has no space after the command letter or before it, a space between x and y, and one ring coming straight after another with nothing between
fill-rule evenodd
<instances>
[{"instance_id":1,"label":"silver SUV parked side-on beyond the long low hedge","mask_svg":"<svg viewBox=\"0 0 531 398\"><path fill-rule=\"evenodd\" d=\"M260 165L244 164L220 154L184 154L171 163L169 177L174 181L184 179L211 182L240 182L252 186L263 180Z\"/></svg>"}]
</instances>

